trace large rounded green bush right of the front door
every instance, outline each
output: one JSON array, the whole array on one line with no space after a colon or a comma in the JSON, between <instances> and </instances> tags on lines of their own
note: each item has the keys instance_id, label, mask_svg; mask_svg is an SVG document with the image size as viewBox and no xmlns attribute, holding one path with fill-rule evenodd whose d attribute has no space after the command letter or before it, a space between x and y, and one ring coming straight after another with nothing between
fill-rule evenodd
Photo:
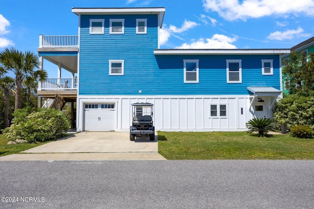
<instances>
[{"instance_id":1,"label":"large rounded green bush right of the front door","mask_svg":"<svg viewBox=\"0 0 314 209\"><path fill-rule=\"evenodd\" d=\"M277 102L273 119L276 128L286 124L288 130L301 124L314 127L314 91L289 94Z\"/></svg>"}]
</instances>

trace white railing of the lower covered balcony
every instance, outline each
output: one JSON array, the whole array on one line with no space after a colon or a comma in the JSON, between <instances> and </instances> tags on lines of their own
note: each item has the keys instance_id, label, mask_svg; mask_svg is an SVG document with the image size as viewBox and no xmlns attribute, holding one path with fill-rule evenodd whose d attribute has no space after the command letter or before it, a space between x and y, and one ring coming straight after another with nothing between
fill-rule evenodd
<instances>
[{"instance_id":1,"label":"white railing of the lower covered balcony","mask_svg":"<svg viewBox=\"0 0 314 209\"><path fill-rule=\"evenodd\" d=\"M77 90L78 78L47 78L38 82L38 90Z\"/></svg>"}]
</instances>

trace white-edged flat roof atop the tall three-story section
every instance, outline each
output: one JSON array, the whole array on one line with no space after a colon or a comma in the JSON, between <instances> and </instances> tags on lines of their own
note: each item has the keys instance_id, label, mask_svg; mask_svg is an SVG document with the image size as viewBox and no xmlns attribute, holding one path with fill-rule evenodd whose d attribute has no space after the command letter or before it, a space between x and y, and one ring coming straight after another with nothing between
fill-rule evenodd
<instances>
[{"instance_id":1,"label":"white-edged flat roof atop the tall three-story section","mask_svg":"<svg viewBox=\"0 0 314 209\"><path fill-rule=\"evenodd\" d=\"M160 28L162 26L165 11L165 7L72 8L72 12L76 15L157 14L158 26Z\"/></svg>"}]
</instances>

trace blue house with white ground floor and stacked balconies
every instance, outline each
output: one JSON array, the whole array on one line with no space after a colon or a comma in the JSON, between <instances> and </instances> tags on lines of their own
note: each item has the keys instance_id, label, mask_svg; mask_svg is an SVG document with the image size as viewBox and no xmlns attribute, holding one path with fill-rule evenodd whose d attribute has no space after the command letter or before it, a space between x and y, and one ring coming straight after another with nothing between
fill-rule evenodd
<instances>
[{"instance_id":1,"label":"blue house with white ground floor and stacked balconies","mask_svg":"<svg viewBox=\"0 0 314 209\"><path fill-rule=\"evenodd\" d=\"M129 131L136 102L154 104L156 130L244 131L253 117L271 118L282 96L288 49L160 49L165 8L72 12L78 36L40 36L39 55L59 76L38 95L76 101L77 131Z\"/></svg>"}]
</instances>

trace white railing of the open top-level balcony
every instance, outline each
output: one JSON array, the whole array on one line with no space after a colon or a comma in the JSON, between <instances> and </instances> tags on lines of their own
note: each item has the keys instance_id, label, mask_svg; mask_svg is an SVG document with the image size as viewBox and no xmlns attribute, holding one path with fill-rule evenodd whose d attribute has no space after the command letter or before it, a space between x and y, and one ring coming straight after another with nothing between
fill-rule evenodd
<instances>
[{"instance_id":1,"label":"white railing of the open top-level balcony","mask_svg":"<svg viewBox=\"0 0 314 209\"><path fill-rule=\"evenodd\" d=\"M44 36L39 35L39 47L75 47L78 36Z\"/></svg>"}]
</instances>

